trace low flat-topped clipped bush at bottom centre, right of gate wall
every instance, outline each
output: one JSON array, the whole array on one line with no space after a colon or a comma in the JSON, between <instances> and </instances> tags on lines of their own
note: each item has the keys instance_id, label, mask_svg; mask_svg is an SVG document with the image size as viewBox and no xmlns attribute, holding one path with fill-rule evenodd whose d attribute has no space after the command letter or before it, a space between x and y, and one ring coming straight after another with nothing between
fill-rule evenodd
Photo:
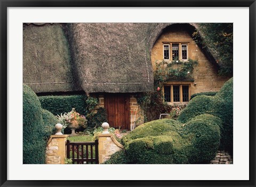
<instances>
[{"instance_id":1,"label":"low flat-topped clipped bush at bottom centre, right of gate wall","mask_svg":"<svg viewBox=\"0 0 256 187\"><path fill-rule=\"evenodd\" d=\"M148 136L130 141L127 157L133 164L187 164L188 142L173 133L174 136Z\"/></svg>"}]
</instances>

